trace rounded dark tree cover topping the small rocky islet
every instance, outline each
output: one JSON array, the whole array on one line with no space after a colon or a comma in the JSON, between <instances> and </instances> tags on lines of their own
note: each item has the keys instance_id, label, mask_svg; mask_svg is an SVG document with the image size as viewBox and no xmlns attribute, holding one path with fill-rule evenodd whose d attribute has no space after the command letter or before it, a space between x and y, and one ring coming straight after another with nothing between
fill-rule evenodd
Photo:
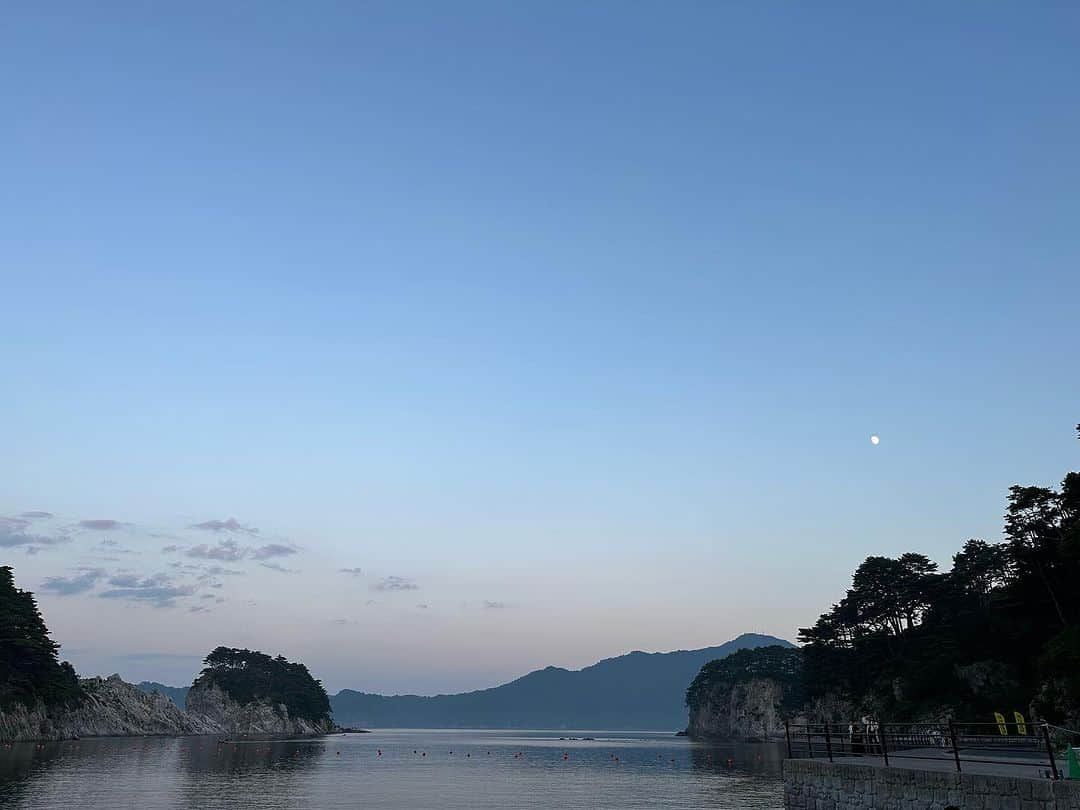
<instances>
[{"instance_id":1,"label":"rounded dark tree cover topping the small rocky islet","mask_svg":"<svg viewBox=\"0 0 1080 810\"><path fill-rule=\"evenodd\" d=\"M257 700L281 703L292 717L315 723L329 719L326 690L303 664L230 647L218 647L203 663L195 687L215 685L240 704Z\"/></svg>"}]
</instances>

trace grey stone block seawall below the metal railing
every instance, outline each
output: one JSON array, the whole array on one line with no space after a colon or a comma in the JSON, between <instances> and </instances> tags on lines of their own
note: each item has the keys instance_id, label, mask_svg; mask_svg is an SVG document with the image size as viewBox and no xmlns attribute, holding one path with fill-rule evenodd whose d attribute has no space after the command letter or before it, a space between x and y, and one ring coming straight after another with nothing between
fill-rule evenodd
<instances>
[{"instance_id":1,"label":"grey stone block seawall below the metal railing","mask_svg":"<svg viewBox=\"0 0 1080 810\"><path fill-rule=\"evenodd\" d=\"M784 761L787 810L1080 810L1080 782Z\"/></svg>"}]
</instances>

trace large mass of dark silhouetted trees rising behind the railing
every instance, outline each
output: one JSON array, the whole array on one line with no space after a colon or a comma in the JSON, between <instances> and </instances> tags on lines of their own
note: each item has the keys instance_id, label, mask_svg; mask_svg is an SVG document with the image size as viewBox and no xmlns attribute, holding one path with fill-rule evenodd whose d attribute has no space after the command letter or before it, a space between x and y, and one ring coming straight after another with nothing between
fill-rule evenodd
<instances>
[{"instance_id":1,"label":"large mass of dark silhouetted trees rising behind the railing","mask_svg":"<svg viewBox=\"0 0 1080 810\"><path fill-rule=\"evenodd\" d=\"M799 638L811 697L839 691L893 719L1028 707L1075 718L1080 473L1059 489L1013 486L1004 542L969 540L947 572L921 554L867 557Z\"/></svg>"}]
</instances>

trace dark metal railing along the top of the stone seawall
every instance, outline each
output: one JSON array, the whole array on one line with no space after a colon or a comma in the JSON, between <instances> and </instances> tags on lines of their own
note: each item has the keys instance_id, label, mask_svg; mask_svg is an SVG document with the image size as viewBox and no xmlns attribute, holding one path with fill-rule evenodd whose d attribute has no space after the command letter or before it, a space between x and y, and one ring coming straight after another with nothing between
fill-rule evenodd
<instances>
[{"instance_id":1,"label":"dark metal railing along the top of the stone seawall","mask_svg":"<svg viewBox=\"0 0 1080 810\"><path fill-rule=\"evenodd\" d=\"M785 724L792 759L872 757L889 767L890 759L953 760L1003 768L1038 766L1061 779L1047 724L1032 723L808 723Z\"/></svg>"}]
</instances>

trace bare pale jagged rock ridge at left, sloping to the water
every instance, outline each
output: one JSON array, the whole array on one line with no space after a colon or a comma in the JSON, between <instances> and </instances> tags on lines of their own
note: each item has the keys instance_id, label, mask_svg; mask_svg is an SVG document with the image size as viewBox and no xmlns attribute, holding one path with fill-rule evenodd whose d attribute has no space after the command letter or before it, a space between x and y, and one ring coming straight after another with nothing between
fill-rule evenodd
<instances>
[{"instance_id":1,"label":"bare pale jagged rock ridge at left, sloping to the water","mask_svg":"<svg viewBox=\"0 0 1080 810\"><path fill-rule=\"evenodd\" d=\"M15 704L0 712L0 740L68 740L75 737L213 734L225 729L187 714L161 694L147 694L119 675L83 678L78 704Z\"/></svg>"}]
</instances>

